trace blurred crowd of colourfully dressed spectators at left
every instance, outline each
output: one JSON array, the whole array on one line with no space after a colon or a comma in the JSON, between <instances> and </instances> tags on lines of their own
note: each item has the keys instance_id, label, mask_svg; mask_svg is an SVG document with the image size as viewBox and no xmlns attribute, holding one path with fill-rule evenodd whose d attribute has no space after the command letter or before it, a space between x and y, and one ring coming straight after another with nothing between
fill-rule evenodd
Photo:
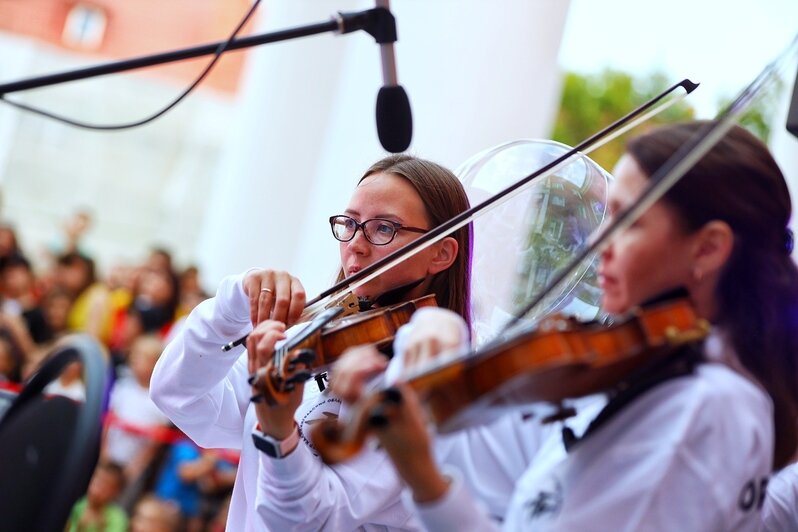
<instances>
[{"instance_id":1,"label":"blurred crowd of colourfully dressed spectators at left","mask_svg":"<svg viewBox=\"0 0 798 532\"><path fill-rule=\"evenodd\" d=\"M194 266L178 269L166 249L102 276L76 213L34 268L14 228L0 225L0 388L16 391L64 335L88 333L114 368L100 461L67 530L223 530L238 456L198 448L149 399L149 381L170 332L208 296ZM79 362L46 393L82 401Z\"/></svg>"}]
</instances>

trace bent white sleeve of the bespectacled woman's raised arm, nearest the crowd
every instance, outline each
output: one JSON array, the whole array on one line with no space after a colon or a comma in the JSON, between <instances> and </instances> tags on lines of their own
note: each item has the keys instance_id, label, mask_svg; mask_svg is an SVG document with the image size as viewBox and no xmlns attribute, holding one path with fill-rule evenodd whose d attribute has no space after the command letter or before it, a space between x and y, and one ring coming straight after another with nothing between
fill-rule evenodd
<instances>
[{"instance_id":1,"label":"bent white sleeve of the bespectacled woman's raised arm, nearest the crowd","mask_svg":"<svg viewBox=\"0 0 798 532\"><path fill-rule=\"evenodd\" d=\"M150 397L202 447L241 448L249 402L243 346L221 346L252 328L243 274L222 281L216 297L200 303L155 365Z\"/></svg>"}]
</instances>

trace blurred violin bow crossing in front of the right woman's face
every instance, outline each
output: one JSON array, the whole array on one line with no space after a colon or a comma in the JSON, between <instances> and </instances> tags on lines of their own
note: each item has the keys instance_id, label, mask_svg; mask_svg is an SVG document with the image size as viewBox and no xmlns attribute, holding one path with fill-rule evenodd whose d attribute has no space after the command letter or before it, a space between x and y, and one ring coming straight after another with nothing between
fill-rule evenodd
<instances>
[{"instance_id":1,"label":"blurred violin bow crossing in front of the right woman's face","mask_svg":"<svg viewBox=\"0 0 798 532\"><path fill-rule=\"evenodd\" d=\"M685 142L649 179L649 183L638 199L620 211L612 223L599 229L598 236L571 262L560 270L541 292L529 301L499 332L503 336L532 309L537 307L550 293L557 289L591 255L601 253L615 235L628 228L657 200L662 198L706 153L717 144L731 129L762 91L769 87L787 68L790 61L798 56L798 35L776 59L769 63L740 94L723 109L714 120L697 131Z\"/></svg>"}]
</instances>

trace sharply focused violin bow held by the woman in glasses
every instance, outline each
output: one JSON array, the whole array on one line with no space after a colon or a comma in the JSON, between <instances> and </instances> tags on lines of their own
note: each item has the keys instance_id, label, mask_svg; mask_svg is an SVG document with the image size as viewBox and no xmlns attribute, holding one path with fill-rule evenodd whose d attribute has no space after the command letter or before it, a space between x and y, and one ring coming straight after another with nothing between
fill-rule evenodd
<instances>
[{"instance_id":1,"label":"sharply focused violin bow held by the woman in glasses","mask_svg":"<svg viewBox=\"0 0 798 532\"><path fill-rule=\"evenodd\" d=\"M672 105L681 101L688 94L693 92L696 89L696 87L698 87L698 84L693 83L689 79L683 79L679 83L672 85L671 87L664 90L657 96L651 98L650 100L648 100L641 106L637 107L627 115L623 116L622 118L616 120L609 126L605 127L604 129L598 131L597 133L594 133L587 139L583 140L578 145L574 146L573 148L571 148L561 156L557 157L550 163L544 165L543 167L532 172L526 177L518 180L512 185L506 187L505 189L497 192L496 194L486 199L479 205L476 205L466 211L461 212L457 216L454 216L453 218L442 223L441 225L421 235L421 237L417 238L416 240L413 240L412 242L409 242L405 246L401 247L400 249L397 249L390 255L383 257L377 262L363 268L359 272L347 277L346 279L343 279L342 281L334 284L327 290L321 292L318 296L307 302L307 304L305 305L306 311L314 306L323 305L325 307L329 307L331 305L337 304L338 301L346 297L346 291L345 291L346 289L348 289L348 291L351 292L355 288L366 284L367 282L371 281L372 279L374 279L379 275L382 275L384 272L404 262L405 260L414 256L415 254L427 249L436 242L443 240L453 232L457 231L461 227L467 225L468 223L476 219L478 216L488 212L489 208L498 207L499 205L502 205L503 203L509 201L516 195L523 192L526 186L533 179L545 178L550 175L553 175L559 169L570 164L572 157L577 155L587 155L593 150L598 149L607 142L610 142L614 138L622 135L629 129L656 116L665 109L668 109ZM684 93L674 94L677 91L677 89L680 88L684 90ZM669 96L672 97L668 98ZM326 298L330 296L332 296L330 300L324 301ZM224 346L222 346L222 350L229 351L232 348L243 344L246 341L246 338L247 335L244 335L238 340L229 342Z\"/></svg>"}]
</instances>

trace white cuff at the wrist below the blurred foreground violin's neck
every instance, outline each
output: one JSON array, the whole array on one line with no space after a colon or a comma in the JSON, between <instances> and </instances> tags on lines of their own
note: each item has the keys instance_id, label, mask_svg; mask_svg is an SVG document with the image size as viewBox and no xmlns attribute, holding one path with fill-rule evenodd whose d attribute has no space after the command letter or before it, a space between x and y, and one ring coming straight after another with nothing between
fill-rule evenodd
<instances>
[{"instance_id":1,"label":"white cuff at the wrist below the blurred foreground violin's neck","mask_svg":"<svg viewBox=\"0 0 798 532\"><path fill-rule=\"evenodd\" d=\"M413 501L409 491L404 493L406 504L415 508L425 529L429 532L499 530L497 524L488 516L485 507L468 492L459 471L445 468L444 474L449 477L451 483L449 490L438 501L418 504Z\"/></svg>"}]
</instances>

